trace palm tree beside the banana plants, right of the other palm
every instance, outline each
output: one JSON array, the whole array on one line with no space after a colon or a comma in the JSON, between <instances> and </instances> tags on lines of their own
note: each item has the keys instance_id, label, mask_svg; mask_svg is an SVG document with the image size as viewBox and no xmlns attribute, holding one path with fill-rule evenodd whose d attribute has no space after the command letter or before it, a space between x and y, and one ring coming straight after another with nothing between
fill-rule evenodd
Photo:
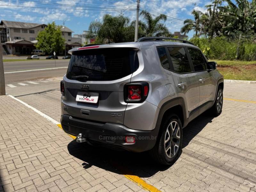
<instances>
[{"instance_id":1,"label":"palm tree beside the banana plants, right of the other palm","mask_svg":"<svg viewBox=\"0 0 256 192\"><path fill-rule=\"evenodd\" d=\"M202 15L203 13L200 11L193 10L192 14L194 15L195 20L192 19L186 19L184 21L184 26L180 29L181 33L188 33L191 30L196 31L196 36L201 35L202 27L201 27L201 22L202 22Z\"/></svg>"}]
</instances>

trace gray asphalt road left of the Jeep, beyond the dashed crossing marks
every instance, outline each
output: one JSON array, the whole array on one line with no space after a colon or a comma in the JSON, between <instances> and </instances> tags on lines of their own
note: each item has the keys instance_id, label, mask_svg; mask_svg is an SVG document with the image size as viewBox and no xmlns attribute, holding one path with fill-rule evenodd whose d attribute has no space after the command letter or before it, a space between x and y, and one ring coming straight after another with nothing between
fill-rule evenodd
<instances>
[{"instance_id":1,"label":"gray asphalt road left of the Jeep, beyond the dashed crossing marks","mask_svg":"<svg viewBox=\"0 0 256 192\"><path fill-rule=\"evenodd\" d=\"M54 60L4 62L5 84L64 76L67 72L68 62L69 60L56 60L56 69L54 69ZM11 73L23 70L25 72Z\"/></svg>"}]
</instances>

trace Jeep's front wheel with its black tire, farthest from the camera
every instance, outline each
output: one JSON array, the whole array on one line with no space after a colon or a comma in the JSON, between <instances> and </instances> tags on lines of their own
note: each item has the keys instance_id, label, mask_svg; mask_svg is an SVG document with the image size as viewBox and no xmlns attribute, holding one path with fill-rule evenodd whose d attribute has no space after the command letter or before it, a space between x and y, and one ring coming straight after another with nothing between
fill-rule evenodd
<instances>
[{"instance_id":1,"label":"Jeep's front wheel with its black tire, farthest from the camera","mask_svg":"<svg viewBox=\"0 0 256 192\"><path fill-rule=\"evenodd\" d=\"M219 86L216 93L215 102L212 108L209 109L209 112L212 116L219 116L222 112L223 106L223 89Z\"/></svg>"}]
</instances>

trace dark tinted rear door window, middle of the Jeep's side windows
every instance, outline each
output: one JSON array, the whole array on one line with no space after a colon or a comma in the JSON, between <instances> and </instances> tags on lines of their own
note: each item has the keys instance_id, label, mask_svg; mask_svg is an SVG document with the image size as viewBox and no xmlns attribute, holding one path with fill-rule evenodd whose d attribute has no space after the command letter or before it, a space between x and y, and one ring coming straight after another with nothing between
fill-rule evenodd
<instances>
[{"instance_id":1,"label":"dark tinted rear door window, middle of the Jeep's side windows","mask_svg":"<svg viewBox=\"0 0 256 192\"><path fill-rule=\"evenodd\" d=\"M168 47L173 70L177 73L189 73L191 68L184 47Z\"/></svg>"}]
</instances>

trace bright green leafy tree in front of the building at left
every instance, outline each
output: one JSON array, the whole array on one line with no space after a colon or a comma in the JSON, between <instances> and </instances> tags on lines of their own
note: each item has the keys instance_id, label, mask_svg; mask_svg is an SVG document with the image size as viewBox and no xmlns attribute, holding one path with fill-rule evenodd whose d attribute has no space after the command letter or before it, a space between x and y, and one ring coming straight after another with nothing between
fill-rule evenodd
<instances>
[{"instance_id":1,"label":"bright green leafy tree in front of the building at left","mask_svg":"<svg viewBox=\"0 0 256 192\"><path fill-rule=\"evenodd\" d=\"M36 40L36 48L49 54L65 49L65 39L61 36L60 26L56 26L54 21L38 33Z\"/></svg>"}]
</instances>

